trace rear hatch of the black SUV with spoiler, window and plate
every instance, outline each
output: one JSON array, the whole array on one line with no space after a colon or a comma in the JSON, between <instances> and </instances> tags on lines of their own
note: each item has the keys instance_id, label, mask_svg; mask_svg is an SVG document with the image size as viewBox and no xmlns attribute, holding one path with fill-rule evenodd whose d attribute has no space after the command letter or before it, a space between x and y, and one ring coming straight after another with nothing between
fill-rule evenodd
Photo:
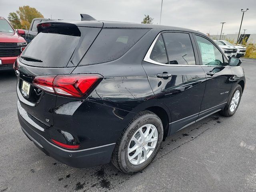
<instances>
[{"instance_id":1,"label":"rear hatch of the black SUV with spoiler, window and plate","mask_svg":"<svg viewBox=\"0 0 256 192\"><path fill-rule=\"evenodd\" d=\"M65 22L38 25L38 35L15 62L20 113L44 129L54 125L56 95L37 88L33 80L36 76L71 74L101 27L79 27Z\"/></svg>"}]
</instances>

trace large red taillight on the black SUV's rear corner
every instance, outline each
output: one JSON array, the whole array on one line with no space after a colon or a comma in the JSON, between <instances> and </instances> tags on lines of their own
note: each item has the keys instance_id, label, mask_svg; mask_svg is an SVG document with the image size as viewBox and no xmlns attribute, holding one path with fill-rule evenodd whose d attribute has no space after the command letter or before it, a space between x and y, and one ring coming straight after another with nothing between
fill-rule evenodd
<instances>
[{"instance_id":1,"label":"large red taillight on the black SUV's rear corner","mask_svg":"<svg viewBox=\"0 0 256 192\"><path fill-rule=\"evenodd\" d=\"M98 74L36 76L34 86L57 95L83 97L103 77Z\"/></svg>"}]
</instances>

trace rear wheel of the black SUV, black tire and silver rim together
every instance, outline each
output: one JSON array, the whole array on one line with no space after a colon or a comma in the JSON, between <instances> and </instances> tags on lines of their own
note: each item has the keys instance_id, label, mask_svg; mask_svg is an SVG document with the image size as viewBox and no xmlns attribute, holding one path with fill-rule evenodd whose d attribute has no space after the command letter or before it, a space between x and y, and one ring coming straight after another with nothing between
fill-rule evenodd
<instances>
[{"instance_id":1,"label":"rear wheel of the black SUV, black tire and silver rim together","mask_svg":"<svg viewBox=\"0 0 256 192\"><path fill-rule=\"evenodd\" d=\"M149 134L152 133L153 136L145 137L145 140L147 140L146 138L152 138L152 140L155 140L151 143L146 143L146 141L143 142L141 139L142 137L140 135L140 130L142 130L142 132L143 132L143 129L148 130L148 128L146 126L149 127L149 131L148 131ZM145 135L146 135L146 130L145 130L145 132L143 132L143 134L145 134ZM150 130L151 130L151 132L150 132ZM153 132L153 130L154 130L154 132ZM140 172L141 170L146 168L152 162L152 160L154 160L154 158L161 146L162 140L163 140L163 132L164 131L163 131L162 121L156 114L154 114L150 111L140 112L128 123L128 125L123 130L120 137L118 138L118 141L116 142L116 146L114 148L114 151L113 151L112 157L111 157L112 164L114 164L114 166L116 168L118 168L118 170L120 170L126 174L134 174L136 172ZM153 145L153 143L154 143L154 144L156 144L156 146L153 151L149 150L146 153L141 152L141 155L140 155L141 158L139 158L139 155L138 155L137 160L136 159L129 160L128 156L130 158L132 158L133 155L131 155L132 153L128 153L128 148L130 148L132 142L134 142L132 139L134 139L135 136L138 137L138 135L140 136L140 138L138 138L137 142L142 141L142 143L140 143L139 148L134 150L134 155L137 151L139 152L140 149L141 149L141 151L145 150L145 148L147 148L148 145ZM157 136L157 138L156 138L156 136ZM136 144L134 144L134 145L136 145ZM151 147L151 146L149 146L149 147ZM148 153L148 155L149 155L149 153L151 153L150 156L148 156L148 157L146 157L147 155L144 156L144 154L147 154L147 153ZM135 156L135 158L136 158L136 156ZM138 162L140 159L141 159L141 161L144 160L144 162L142 162L140 164L134 164L135 161Z\"/></svg>"}]
</instances>

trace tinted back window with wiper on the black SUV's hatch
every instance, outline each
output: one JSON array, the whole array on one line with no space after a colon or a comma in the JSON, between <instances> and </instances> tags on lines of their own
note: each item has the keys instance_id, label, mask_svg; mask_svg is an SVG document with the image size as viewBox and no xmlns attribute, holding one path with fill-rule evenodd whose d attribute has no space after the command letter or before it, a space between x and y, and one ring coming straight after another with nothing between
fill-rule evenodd
<instances>
[{"instance_id":1,"label":"tinted back window with wiper on the black SUV's hatch","mask_svg":"<svg viewBox=\"0 0 256 192\"><path fill-rule=\"evenodd\" d=\"M41 32L22 52L22 56L36 58L41 62L22 58L20 61L37 67L65 67L78 44L79 38L79 36Z\"/></svg>"}]
</instances>

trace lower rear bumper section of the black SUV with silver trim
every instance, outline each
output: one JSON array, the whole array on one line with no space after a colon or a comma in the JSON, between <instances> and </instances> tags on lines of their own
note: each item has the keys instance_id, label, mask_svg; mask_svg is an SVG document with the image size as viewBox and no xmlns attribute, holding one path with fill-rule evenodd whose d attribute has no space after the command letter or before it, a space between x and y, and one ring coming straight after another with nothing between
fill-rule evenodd
<instances>
[{"instance_id":1,"label":"lower rear bumper section of the black SUV with silver trim","mask_svg":"<svg viewBox=\"0 0 256 192\"><path fill-rule=\"evenodd\" d=\"M110 162L115 143L83 150L66 150L52 144L48 138L44 138L38 131L35 131L36 128L27 122L20 115L20 112L18 112L18 119L24 134L32 140L40 150L68 166L85 168Z\"/></svg>"}]
</instances>

